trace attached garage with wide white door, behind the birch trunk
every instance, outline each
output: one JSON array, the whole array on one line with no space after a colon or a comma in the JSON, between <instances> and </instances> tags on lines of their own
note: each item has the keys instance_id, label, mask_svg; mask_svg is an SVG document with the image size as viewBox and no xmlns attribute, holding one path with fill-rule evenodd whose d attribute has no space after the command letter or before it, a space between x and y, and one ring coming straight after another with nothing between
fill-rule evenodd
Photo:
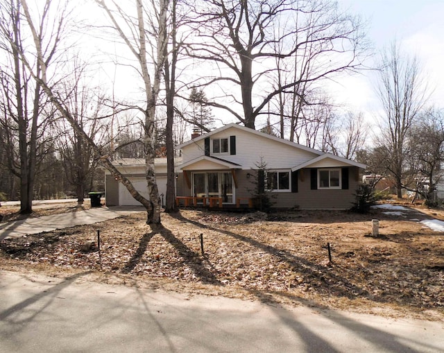
<instances>
[{"instance_id":1,"label":"attached garage with wide white door, behind the birch trunk","mask_svg":"<svg viewBox=\"0 0 444 353\"><path fill-rule=\"evenodd\" d=\"M180 163L176 160L176 164ZM122 158L112 162L117 169L133 183L133 186L139 193L148 198L148 189L146 187L145 160L142 158ZM155 158L154 161L155 177L159 195L164 203L167 195L167 158ZM163 195L163 197L162 197ZM105 171L105 203L107 206L140 206L139 201L135 200L126 187L115 180L109 171Z\"/></svg>"}]
</instances>

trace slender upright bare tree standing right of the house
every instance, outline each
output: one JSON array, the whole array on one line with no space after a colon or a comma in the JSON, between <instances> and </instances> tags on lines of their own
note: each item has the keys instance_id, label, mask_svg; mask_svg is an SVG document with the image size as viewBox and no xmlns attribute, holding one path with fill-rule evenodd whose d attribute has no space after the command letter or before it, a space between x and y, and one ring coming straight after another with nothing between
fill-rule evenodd
<instances>
[{"instance_id":1,"label":"slender upright bare tree standing right of the house","mask_svg":"<svg viewBox=\"0 0 444 353\"><path fill-rule=\"evenodd\" d=\"M403 55L396 42L382 53L377 92L384 108L377 144L386 149L384 155L388 157L381 163L395 182L398 198L402 198L407 135L427 103L428 91L418 59Z\"/></svg>"}]
</instances>

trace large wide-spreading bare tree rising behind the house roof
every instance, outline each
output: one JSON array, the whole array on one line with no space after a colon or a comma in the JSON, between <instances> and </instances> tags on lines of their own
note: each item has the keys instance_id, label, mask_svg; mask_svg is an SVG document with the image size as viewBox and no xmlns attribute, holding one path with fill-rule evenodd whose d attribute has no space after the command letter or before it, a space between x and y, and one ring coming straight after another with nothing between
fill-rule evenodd
<instances>
[{"instance_id":1,"label":"large wide-spreading bare tree rising behind the house roof","mask_svg":"<svg viewBox=\"0 0 444 353\"><path fill-rule=\"evenodd\" d=\"M255 128L275 96L302 93L304 83L359 67L365 44L359 19L340 13L330 1L194 1L190 17L196 37L188 43L188 53L214 73L194 86L212 86L216 93L207 104L248 128ZM286 31L277 31L284 22ZM276 58L304 58L312 69L275 86L270 76L280 69Z\"/></svg>"}]
</instances>

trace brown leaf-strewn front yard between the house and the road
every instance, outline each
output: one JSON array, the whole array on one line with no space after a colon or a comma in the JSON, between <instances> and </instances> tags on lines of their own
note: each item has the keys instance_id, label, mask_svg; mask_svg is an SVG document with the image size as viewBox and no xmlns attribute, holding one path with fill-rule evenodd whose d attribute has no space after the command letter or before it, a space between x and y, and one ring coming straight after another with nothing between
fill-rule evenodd
<instances>
[{"instance_id":1,"label":"brown leaf-strewn front yard between the house and the road","mask_svg":"<svg viewBox=\"0 0 444 353\"><path fill-rule=\"evenodd\" d=\"M39 215L75 209L52 207L40 209ZM3 207L0 212L8 214ZM444 220L444 212L419 206L404 216L383 212L298 211L264 217L185 209L162 214L157 227L145 224L145 213L133 214L3 240L0 267L58 277L87 273L84 280L444 320L444 234L418 222ZM379 219L377 238L371 236L372 218Z\"/></svg>"}]
</instances>

